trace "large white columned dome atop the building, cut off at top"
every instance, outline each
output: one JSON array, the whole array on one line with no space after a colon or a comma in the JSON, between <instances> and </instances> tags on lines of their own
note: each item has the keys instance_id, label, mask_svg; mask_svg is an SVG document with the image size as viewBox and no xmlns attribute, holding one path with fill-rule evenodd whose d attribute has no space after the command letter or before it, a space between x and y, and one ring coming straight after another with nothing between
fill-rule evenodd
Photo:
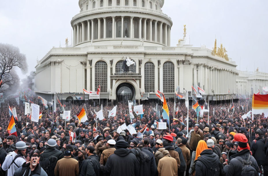
<instances>
[{"instance_id":1,"label":"large white columned dome atop the building, cut off at top","mask_svg":"<svg viewBox=\"0 0 268 176\"><path fill-rule=\"evenodd\" d=\"M162 13L164 0L79 0L71 20L73 46L170 46L171 18Z\"/></svg>"}]
</instances>

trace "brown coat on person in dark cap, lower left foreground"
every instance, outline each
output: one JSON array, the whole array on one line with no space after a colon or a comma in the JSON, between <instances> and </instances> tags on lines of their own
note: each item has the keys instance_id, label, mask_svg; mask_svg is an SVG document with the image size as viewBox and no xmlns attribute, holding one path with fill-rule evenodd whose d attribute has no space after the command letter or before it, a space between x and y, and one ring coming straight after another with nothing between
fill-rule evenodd
<instances>
[{"instance_id":1,"label":"brown coat on person in dark cap, lower left foreground","mask_svg":"<svg viewBox=\"0 0 268 176\"><path fill-rule=\"evenodd\" d=\"M55 176L78 176L78 161L71 158L71 156L60 159L56 164L54 174Z\"/></svg>"}]
</instances>

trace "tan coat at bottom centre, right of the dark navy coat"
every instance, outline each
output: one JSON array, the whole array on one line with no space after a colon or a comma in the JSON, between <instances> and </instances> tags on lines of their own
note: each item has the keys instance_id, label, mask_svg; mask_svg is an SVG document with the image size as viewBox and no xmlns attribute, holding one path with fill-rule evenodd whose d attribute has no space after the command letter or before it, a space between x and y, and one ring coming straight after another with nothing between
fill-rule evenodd
<instances>
[{"instance_id":1,"label":"tan coat at bottom centre, right of the dark navy coat","mask_svg":"<svg viewBox=\"0 0 268 176\"><path fill-rule=\"evenodd\" d=\"M178 152L177 152L178 153ZM178 175L177 161L168 156L164 156L158 162L157 166L158 176L175 176Z\"/></svg>"}]
</instances>

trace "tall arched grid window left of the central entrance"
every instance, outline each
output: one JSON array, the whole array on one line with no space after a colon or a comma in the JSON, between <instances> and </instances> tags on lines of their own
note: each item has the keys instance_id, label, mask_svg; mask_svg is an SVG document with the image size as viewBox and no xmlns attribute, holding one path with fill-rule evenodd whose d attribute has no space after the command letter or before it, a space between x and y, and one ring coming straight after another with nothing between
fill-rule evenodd
<instances>
[{"instance_id":1,"label":"tall arched grid window left of the central entrance","mask_svg":"<svg viewBox=\"0 0 268 176\"><path fill-rule=\"evenodd\" d=\"M95 64L95 91L101 86L101 92L107 92L107 63L98 61Z\"/></svg>"}]
</instances>

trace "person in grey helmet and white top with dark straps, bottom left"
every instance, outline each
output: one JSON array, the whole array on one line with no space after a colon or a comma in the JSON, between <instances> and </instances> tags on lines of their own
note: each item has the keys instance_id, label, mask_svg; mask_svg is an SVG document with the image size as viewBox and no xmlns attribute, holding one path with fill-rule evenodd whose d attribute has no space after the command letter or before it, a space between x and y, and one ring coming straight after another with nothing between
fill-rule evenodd
<instances>
[{"instance_id":1,"label":"person in grey helmet and white top with dark straps, bottom left","mask_svg":"<svg viewBox=\"0 0 268 176\"><path fill-rule=\"evenodd\" d=\"M2 169L7 170L7 176L13 176L15 170L21 167L25 162L26 148L29 147L25 142L19 141L16 143L16 150L5 157Z\"/></svg>"}]
</instances>

